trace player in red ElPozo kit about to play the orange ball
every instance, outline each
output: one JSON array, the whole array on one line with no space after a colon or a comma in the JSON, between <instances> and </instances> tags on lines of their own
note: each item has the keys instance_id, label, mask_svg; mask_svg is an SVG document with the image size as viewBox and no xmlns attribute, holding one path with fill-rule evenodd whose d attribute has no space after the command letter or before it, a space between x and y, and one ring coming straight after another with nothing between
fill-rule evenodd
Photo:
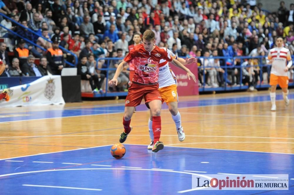
<instances>
[{"instance_id":1,"label":"player in red ElPozo kit about to play the orange ball","mask_svg":"<svg viewBox=\"0 0 294 195\"><path fill-rule=\"evenodd\" d=\"M165 49L159 48L155 45L155 34L151 30L146 30L143 33L143 44L136 45L123 61L118 65L116 73L109 81L109 84L117 85L117 78L123 67L133 60L135 66L135 73L133 76L133 83L128 89L128 95L125 102L125 111L123 115L124 131L121 133L119 142L126 141L128 134L131 132L130 126L131 117L136 106L141 104L144 97L145 104L152 112L152 130L154 134L153 152L162 150L164 145L159 141L161 134L161 97L158 91L158 64L161 59L166 61L173 61L178 67L183 65L173 59Z\"/></svg>"}]
</instances>

